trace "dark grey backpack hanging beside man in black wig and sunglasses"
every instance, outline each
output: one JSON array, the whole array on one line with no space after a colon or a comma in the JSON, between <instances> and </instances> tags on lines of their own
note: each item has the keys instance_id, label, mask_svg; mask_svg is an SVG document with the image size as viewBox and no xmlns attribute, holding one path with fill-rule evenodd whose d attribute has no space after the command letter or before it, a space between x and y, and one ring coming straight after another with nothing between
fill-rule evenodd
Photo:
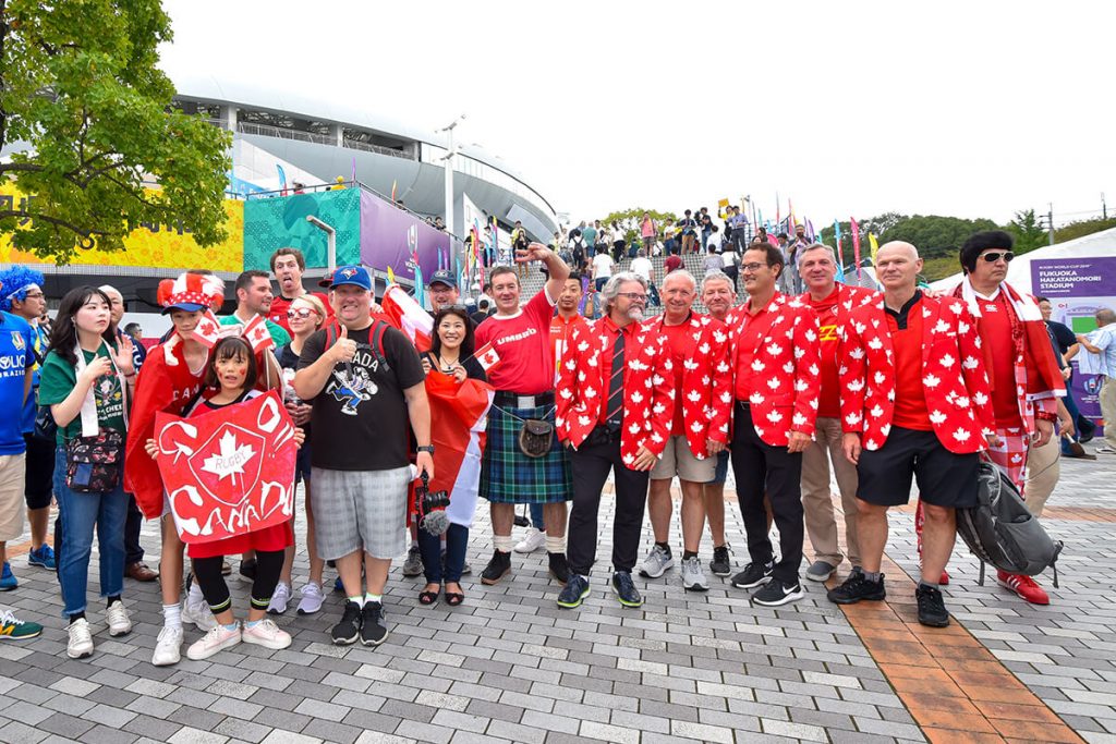
<instances>
[{"instance_id":1,"label":"dark grey backpack hanging beside man in black wig and sunglasses","mask_svg":"<svg viewBox=\"0 0 1116 744\"><path fill-rule=\"evenodd\" d=\"M956 511L958 534L980 559L980 583L984 583L985 563L1022 576L1037 576L1052 567L1057 588L1061 541L1050 539L999 467L981 462L977 481L979 503Z\"/></svg>"}]
</instances>

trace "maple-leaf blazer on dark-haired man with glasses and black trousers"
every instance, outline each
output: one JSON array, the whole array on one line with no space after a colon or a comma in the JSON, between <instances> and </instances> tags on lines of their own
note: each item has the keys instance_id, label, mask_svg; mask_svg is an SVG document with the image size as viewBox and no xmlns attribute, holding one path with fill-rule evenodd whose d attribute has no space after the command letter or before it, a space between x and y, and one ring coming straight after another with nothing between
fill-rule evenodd
<instances>
[{"instance_id":1,"label":"maple-leaf blazer on dark-haired man with glasses and black trousers","mask_svg":"<svg viewBox=\"0 0 1116 744\"><path fill-rule=\"evenodd\" d=\"M749 302L727 318L732 342L732 374L739 374L740 349ZM797 297L776 292L768 306L770 327L756 339L749 374L752 424L772 447L786 447L791 429L814 435L821 389L818 315ZM733 390L739 380L733 380Z\"/></svg>"}]
</instances>

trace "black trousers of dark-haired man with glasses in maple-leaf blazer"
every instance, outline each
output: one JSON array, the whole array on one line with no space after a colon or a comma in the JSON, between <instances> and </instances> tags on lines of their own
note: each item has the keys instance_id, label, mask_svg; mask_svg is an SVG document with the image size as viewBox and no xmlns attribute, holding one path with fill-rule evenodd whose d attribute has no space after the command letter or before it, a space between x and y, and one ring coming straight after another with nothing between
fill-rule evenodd
<instances>
[{"instance_id":1,"label":"black trousers of dark-haired man with glasses in maple-leaf blazer","mask_svg":"<svg viewBox=\"0 0 1116 744\"><path fill-rule=\"evenodd\" d=\"M790 415L788 412L787 415ZM789 584L798 582L805 539L802 511L802 454L763 442L752 425L751 408L737 402L733 410L732 472L737 477L737 501L748 533L748 554L753 563L772 559L768 538L763 494L771 501L775 525L779 528L782 558L775 566L775 578Z\"/></svg>"}]
</instances>

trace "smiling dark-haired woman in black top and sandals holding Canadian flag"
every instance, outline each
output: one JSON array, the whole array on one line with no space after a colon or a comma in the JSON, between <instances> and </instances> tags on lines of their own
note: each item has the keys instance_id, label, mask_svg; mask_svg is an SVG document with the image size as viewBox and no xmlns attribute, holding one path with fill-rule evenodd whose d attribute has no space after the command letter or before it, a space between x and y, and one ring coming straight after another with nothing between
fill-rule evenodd
<instances>
[{"instance_id":1,"label":"smiling dark-haired woman in black top and sandals holding Canadian flag","mask_svg":"<svg viewBox=\"0 0 1116 744\"><path fill-rule=\"evenodd\" d=\"M431 339L431 350L422 355L422 366L427 375L431 370L449 375L458 385L465 379L487 381L484 369L473 354L473 326L469 315L461 306L443 308L434 317L434 338ZM427 386L432 383L427 376ZM450 422L439 422L440 426L451 425ZM479 472L479 471L478 471ZM460 493L455 490L450 494L450 501L472 497L477 503L478 483L469 484ZM471 486L471 487L470 487ZM434 489L431 483L431 490ZM419 550L422 552L423 572L426 574L426 587L419 593L421 605L433 605L445 581L445 603L455 607L464 601L461 591L461 572L465 563L465 548L469 545L469 522L472 521L472 510L464 510L464 516L454 510L455 516L465 524L451 520L445 532L445 566L442 564L442 540L423 529L419 529Z\"/></svg>"}]
</instances>

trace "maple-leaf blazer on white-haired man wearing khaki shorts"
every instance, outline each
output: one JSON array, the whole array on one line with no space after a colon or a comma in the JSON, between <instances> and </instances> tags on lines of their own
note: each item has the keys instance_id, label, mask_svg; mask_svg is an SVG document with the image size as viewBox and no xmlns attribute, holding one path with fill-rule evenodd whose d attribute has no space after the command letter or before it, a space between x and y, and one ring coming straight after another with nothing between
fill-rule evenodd
<instances>
[{"instance_id":1,"label":"maple-leaf blazer on white-haired man wearing khaki shorts","mask_svg":"<svg viewBox=\"0 0 1116 744\"><path fill-rule=\"evenodd\" d=\"M663 334L663 316L644 323L651 332ZM682 406L686 443L698 460L709 457L706 442L729 442L732 418L732 367L729 329L720 320L700 312L690 315L690 344L683 361L682 389L674 392L674 405ZM670 344L665 349L670 352ZM673 413L673 412L672 412Z\"/></svg>"}]
</instances>

